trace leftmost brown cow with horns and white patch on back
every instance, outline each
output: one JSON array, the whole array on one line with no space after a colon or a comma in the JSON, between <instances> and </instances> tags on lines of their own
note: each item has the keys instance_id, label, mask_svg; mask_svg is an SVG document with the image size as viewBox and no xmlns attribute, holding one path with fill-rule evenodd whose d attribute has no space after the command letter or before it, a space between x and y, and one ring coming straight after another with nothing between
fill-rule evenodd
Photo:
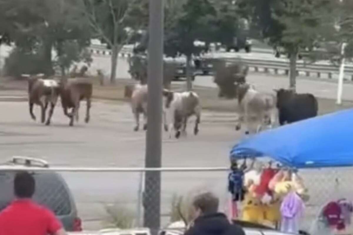
<instances>
[{"instance_id":1,"label":"leftmost brown cow with horns and white patch on back","mask_svg":"<svg viewBox=\"0 0 353 235\"><path fill-rule=\"evenodd\" d=\"M48 103L50 103L49 116L46 122L46 125L49 125L56 101L58 101L60 83L54 79L41 79L44 74L38 74L37 76L22 74L22 76L28 78L29 113L32 119L36 120L33 113L33 105L36 104L41 107L41 122L44 123Z\"/></svg>"}]
</instances>

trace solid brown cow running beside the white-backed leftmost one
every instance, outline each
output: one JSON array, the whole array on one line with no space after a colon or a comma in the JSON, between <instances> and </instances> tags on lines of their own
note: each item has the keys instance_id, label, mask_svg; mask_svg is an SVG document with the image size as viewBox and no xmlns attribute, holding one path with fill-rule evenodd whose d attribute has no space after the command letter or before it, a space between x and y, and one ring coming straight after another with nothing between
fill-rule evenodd
<instances>
[{"instance_id":1,"label":"solid brown cow running beside the white-backed leftmost one","mask_svg":"<svg viewBox=\"0 0 353 235\"><path fill-rule=\"evenodd\" d=\"M90 119L89 110L91 108L91 97L92 97L92 82L88 79L67 79L62 78L60 85L60 98L62 109L64 114L70 118L70 126L73 125L73 118L76 116L78 121L78 110L80 107L80 101L86 99L86 118L85 122L88 123ZM71 109L71 113L67 112L67 109Z\"/></svg>"}]
</instances>

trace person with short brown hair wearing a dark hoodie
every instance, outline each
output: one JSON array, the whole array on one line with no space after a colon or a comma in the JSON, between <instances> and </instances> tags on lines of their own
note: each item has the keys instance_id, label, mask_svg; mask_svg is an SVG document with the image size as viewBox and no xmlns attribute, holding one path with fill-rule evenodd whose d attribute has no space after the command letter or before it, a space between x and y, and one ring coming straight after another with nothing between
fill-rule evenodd
<instances>
[{"instance_id":1,"label":"person with short brown hair wearing a dark hoodie","mask_svg":"<svg viewBox=\"0 0 353 235\"><path fill-rule=\"evenodd\" d=\"M241 227L218 212L218 206L219 199L213 193L196 196L192 203L194 221L184 235L245 235Z\"/></svg>"}]
</instances>

